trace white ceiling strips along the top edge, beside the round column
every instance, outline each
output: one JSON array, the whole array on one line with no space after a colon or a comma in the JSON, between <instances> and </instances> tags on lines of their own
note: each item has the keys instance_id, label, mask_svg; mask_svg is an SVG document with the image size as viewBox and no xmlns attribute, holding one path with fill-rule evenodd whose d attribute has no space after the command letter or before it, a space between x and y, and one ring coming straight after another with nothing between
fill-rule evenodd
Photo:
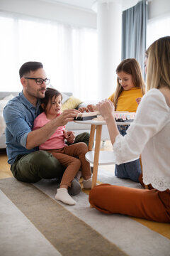
<instances>
[{"instance_id":1,"label":"white ceiling strips along the top edge, beside the round column","mask_svg":"<svg viewBox=\"0 0 170 256\"><path fill-rule=\"evenodd\" d=\"M56 3L56 4L64 4L69 7L74 8L81 8L91 11L92 6L97 2L96 0L41 0L41 1L47 1L50 3ZM100 1L106 1L106 3L109 3L109 0L100 0ZM123 10L128 9L135 4L137 4L137 1L139 0L110 0L110 1L118 1L119 3L123 3ZM94 8L93 8L94 9Z\"/></svg>"}]
</instances>

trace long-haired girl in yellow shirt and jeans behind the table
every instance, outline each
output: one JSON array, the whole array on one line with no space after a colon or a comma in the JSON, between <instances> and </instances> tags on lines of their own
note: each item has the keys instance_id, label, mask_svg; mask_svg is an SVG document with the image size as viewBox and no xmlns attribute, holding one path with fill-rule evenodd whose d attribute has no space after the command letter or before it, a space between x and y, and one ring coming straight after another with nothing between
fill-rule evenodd
<instances>
[{"instance_id":1,"label":"long-haired girl in yellow shirt and jeans behind the table","mask_svg":"<svg viewBox=\"0 0 170 256\"><path fill-rule=\"evenodd\" d=\"M117 87L108 100L113 102L116 111L136 112L137 99L145 94L145 82L142 78L140 64L135 58L123 60L117 67ZM94 105L88 105L86 109L79 109L81 112L93 112L97 110ZM123 136L126 134L129 125L119 125L118 130ZM128 154L128 152L127 152ZM115 176L118 178L130 178L139 182L141 171L140 159L129 163L115 165Z\"/></svg>"}]
</instances>

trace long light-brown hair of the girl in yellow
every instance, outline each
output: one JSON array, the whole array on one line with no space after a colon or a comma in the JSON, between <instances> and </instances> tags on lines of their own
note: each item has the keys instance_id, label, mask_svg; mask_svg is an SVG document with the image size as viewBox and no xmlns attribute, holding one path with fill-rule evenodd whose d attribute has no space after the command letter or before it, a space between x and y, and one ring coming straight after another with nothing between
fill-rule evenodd
<instances>
[{"instance_id":1,"label":"long light-brown hair of the girl in yellow","mask_svg":"<svg viewBox=\"0 0 170 256\"><path fill-rule=\"evenodd\" d=\"M118 74L121 71L132 75L132 82L135 85L135 87L141 88L142 95L145 94L145 82L142 78L142 71L140 68L140 64L135 60L135 58L128 58L123 60L118 67L116 68L115 72ZM116 105L118 103L118 97L123 91L123 87L120 85L119 80L117 78L117 87L115 89L115 96L113 100L113 105L115 106L116 110Z\"/></svg>"}]
</instances>

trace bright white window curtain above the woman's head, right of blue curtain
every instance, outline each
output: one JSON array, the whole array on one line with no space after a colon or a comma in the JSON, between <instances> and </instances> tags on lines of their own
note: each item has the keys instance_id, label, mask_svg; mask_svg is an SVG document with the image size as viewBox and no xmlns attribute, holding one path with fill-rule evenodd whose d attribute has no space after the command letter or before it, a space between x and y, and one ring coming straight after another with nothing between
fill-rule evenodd
<instances>
[{"instance_id":1,"label":"bright white window curtain above the woman's head, right of blue curtain","mask_svg":"<svg viewBox=\"0 0 170 256\"><path fill-rule=\"evenodd\" d=\"M147 48L157 39L170 36L170 13L147 23Z\"/></svg>"}]
</instances>

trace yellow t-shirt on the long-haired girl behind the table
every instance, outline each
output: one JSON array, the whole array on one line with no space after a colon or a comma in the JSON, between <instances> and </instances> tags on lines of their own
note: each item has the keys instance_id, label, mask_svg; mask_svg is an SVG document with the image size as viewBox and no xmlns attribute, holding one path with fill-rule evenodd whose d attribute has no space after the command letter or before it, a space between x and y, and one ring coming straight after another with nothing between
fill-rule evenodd
<instances>
[{"instance_id":1,"label":"yellow t-shirt on the long-haired girl behind the table","mask_svg":"<svg viewBox=\"0 0 170 256\"><path fill-rule=\"evenodd\" d=\"M114 96L115 93L108 97L108 100L111 100L113 102ZM136 112L138 107L136 98L142 96L142 90L137 87L134 87L130 90L123 90L123 92L118 97L116 111Z\"/></svg>"}]
</instances>

